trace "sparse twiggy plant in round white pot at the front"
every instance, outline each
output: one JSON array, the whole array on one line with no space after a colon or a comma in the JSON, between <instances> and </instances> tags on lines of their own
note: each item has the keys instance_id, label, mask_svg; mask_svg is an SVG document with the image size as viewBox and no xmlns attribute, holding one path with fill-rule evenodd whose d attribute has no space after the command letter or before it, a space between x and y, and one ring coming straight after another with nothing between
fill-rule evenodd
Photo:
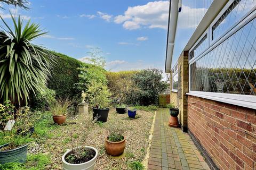
<instances>
[{"instance_id":1,"label":"sparse twiggy plant in round white pot at the front","mask_svg":"<svg viewBox=\"0 0 256 170\"><path fill-rule=\"evenodd\" d=\"M74 136L70 132L72 149L68 150L62 156L62 167L65 170L93 170L97 157L98 150L90 146L82 146L89 136L91 128L97 119L90 121L89 118L85 118L85 123L81 129L82 134L77 139L73 139ZM76 140L76 141L74 141ZM78 142L78 147L74 147L74 143Z\"/></svg>"}]
</instances>

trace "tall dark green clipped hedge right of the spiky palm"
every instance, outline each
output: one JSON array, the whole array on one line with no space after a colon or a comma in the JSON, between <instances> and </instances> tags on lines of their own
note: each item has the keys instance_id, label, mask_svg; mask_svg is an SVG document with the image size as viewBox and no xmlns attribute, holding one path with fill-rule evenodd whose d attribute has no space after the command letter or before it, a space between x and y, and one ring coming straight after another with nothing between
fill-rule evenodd
<instances>
[{"instance_id":1,"label":"tall dark green clipped hedge right of the spiky palm","mask_svg":"<svg viewBox=\"0 0 256 170\"><path fill-rule=\"evenodd\" d=\"M80 73L77 67L81 67L83 63L61 53L51 53L56 56L57 63L52 69L47 87L55 90L56 97L76 96L79 92L74 88L74 84L78 82Z\"/></svg>"}]
</instances>

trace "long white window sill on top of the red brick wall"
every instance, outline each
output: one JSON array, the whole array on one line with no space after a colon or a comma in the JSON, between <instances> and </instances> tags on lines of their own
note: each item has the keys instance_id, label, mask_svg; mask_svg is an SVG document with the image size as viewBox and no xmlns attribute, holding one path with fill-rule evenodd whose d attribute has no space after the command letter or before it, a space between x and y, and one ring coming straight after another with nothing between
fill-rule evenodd
<instances>
[{"instance_id":1,"label":"long white window sill on top of the red brick wall","mask_svg":"<svg viewBox=\"0 0 256 170\"><path fill-rule=\"evenodd\" d=\"M203 95L203 94L194 94L194 93L191 93L191 92L187 93L186 95L196 96L196 97L201 97L201 98L205 98L205 99L220 101L220 102L228 103L228 104L232 104L232 105L237 105L237 106L242 106L242 107L256 109L256 104L252 103L252 102L249 102L249 101L242 101L242 100L236 100L236 99L214 97L214 96L208 96L208 95Z\"/></svg>"}]
</instances>

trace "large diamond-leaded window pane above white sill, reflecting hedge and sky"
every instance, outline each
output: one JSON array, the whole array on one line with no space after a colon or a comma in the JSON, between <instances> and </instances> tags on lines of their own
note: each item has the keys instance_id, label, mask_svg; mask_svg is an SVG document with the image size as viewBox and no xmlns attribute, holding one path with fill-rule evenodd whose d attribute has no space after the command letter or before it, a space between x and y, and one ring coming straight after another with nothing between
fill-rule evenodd
<instances>
[{"instance_id":1,"label":"large diamond-leaded window pane above white sill, reflecting hedge and sky","mask_svg":"<svg viewBox=\"0 0 256 170\"><path fill-rule=\"evenodd\" d=\"M190 65L190 90L256 95L256 19Z\"/></svg>"}]
</instances>

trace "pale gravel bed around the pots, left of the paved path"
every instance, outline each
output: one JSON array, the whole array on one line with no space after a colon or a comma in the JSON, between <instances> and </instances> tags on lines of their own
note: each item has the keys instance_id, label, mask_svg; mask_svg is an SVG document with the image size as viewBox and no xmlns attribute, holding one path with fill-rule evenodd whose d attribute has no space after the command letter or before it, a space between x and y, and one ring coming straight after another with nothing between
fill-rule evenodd
<instances>
[{"instance_id":1,"label":"pale gravel bed around the pots, left of the paved path","mask_svg":"<svg viewBox=\"0 0 256 170\"><path fill-rule=\"evenodd\" d=\"M148 137L150 128L153 123L154 112L137 111L140 118L135 120L125 120L127 114L117 114L115 109L110 109L108 121L106 123L95 123L89 138L83 141L83 146L92 146L98 149L99 156L95 169L129 169L128 164L133 161L142 161L146 155L148 147ZM87 115L92 118L92 114ZM52 130L50 139L47 139L41 146L35 145L38 148L51 155L51 165L47 169L62 169L61 157L72 147L76 147L75 143L81 137L81 129L85 116L68 117L65 125L60 125L59 128ZM113 121L127 127L124 135L126 136L126 156L122 159L110 158L104 148L104 137L107 135L106 127ZM73 138L71 138L73 136ZM33 152L33 147L30 152Z\"/></svg>"}]
</instances>

